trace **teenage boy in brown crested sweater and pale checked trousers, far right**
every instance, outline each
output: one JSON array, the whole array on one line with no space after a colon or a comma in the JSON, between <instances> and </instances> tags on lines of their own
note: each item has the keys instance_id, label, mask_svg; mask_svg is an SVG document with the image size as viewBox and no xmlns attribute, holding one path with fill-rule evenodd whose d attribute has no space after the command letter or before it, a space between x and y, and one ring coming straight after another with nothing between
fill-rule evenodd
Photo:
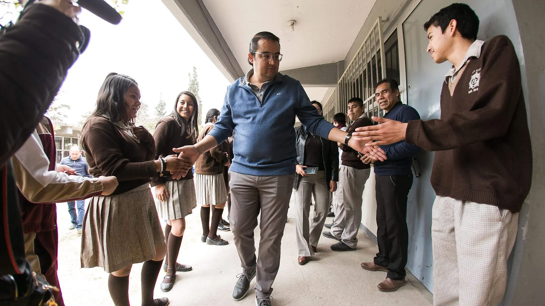
<instances>
[{"instance_id":1,"label":"teenage boy in brown crested sweater and pale checked trousers, far right","mask_svg":"<svg viewBox=\"0 0 545 306\"><path fill-rule=\"evenodd\" d=\"M453 64L441 92L441 119L373 118L381 124L353 135L378 140L372 145L405 139L437 151L434 305L498 305L532 174L517 54L506 36L476 40L479 18L466 4L441 9L424 28L434 62Z\"/></svg>"}]
</instances>

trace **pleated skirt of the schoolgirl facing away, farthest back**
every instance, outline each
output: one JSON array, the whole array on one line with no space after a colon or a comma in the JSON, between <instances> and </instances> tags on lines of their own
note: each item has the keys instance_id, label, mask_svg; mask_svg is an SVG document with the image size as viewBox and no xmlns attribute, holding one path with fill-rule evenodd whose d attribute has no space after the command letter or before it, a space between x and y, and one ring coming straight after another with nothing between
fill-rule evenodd
<instances>
[{"instance_id":1,"label":"pleated skirt of the schoolgirl facing away, farthest back","mask_svg":"<svg viewBox=\"0 0 545 306\"><path fill-rule=\"evenodd\" d=\"M195 189L199 206L227 202L227 189L225 188L223 174L195 173Z\"/></svg>"}]
</instances>

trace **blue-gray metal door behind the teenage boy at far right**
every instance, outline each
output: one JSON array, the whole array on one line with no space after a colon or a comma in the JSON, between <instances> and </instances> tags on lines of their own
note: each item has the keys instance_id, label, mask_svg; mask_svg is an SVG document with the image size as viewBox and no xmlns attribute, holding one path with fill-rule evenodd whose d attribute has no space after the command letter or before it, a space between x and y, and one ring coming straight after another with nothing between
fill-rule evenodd
<instances>
[{"instance_id":1,"label":"blue-gray metal door behind the teenage boy at far right","mask_svg":"<svg viewBox=\"0 0 545 306\"><path fill-rule=\"evenodd\" d=\"M487 40L505 34L513 41L520 58L520 36L512 8L508 1L463 1L470 5L480 19L477 38ZM441 8L451 4L444 0L422 0L403 23L405 66L407 71L407 102L419 113L422 120L440 118L439 98L444 75L451 64L435 64L426 52L428 39L423 24ZM511 4L512 5L512 4ZM522 59L522 58L521 58ZM523 61L521 60L521 63ZM407 268L432 291L432 205L435 192L429 182L433 152L417 156L420 178L415 178L409 193L407 223L409 226L409 260Z\"/></svg>"}]
</instances>

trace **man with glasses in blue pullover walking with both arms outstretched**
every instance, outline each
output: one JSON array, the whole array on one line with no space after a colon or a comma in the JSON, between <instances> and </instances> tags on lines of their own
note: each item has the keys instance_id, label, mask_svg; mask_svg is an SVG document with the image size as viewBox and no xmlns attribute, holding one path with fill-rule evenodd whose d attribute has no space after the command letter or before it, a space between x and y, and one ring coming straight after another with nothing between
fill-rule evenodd
<instances>
[{"instance_id":1,"label":"man with glasses in blue pullover walking with both arms outstretched","mask_svg":"<svg viewBox=\"0 0 545 306\"><path fill-rule=\"evenodd\" d=\"M318 114L301 83L278 73L282 60L280 39L272 33L257 33L250 42L248 62L252 69L227 87L221 115L201 142L174 149L193 163L203 152L215 148L233 134L231 216L243 272L233 290L239 301L257 276L256 305L270 306L272 283L280 266L280 242L286 224L295 173L295 115L307 131L329 138L384 160L378 147L352 138ZM185 173L174 173L180 178ZM254 230L261 210L261 240L256 257Z\"/></svg>"}]
</instances>

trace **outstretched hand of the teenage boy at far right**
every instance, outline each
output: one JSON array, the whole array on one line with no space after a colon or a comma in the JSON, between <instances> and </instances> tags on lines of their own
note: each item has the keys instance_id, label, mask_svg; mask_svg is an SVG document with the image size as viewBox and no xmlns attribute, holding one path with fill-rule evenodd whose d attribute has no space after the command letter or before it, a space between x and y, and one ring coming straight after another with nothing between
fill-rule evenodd
<instances>
[{"instance_id":1,"label":"outstretched hand of the teenage boy at far right","mask_svg":"<svg viewBox=\"0 0 545 306\"><path fill-rule=\"evenodd\" d=\"M356 128L356 132L352 133L355 142L366 143L366 146L378 146L396 143L405 139L406 123L380 117L372 117L371 119L380 124ZM373 142L373 140L378 141Z\"/></svg>"}]
</instances>

